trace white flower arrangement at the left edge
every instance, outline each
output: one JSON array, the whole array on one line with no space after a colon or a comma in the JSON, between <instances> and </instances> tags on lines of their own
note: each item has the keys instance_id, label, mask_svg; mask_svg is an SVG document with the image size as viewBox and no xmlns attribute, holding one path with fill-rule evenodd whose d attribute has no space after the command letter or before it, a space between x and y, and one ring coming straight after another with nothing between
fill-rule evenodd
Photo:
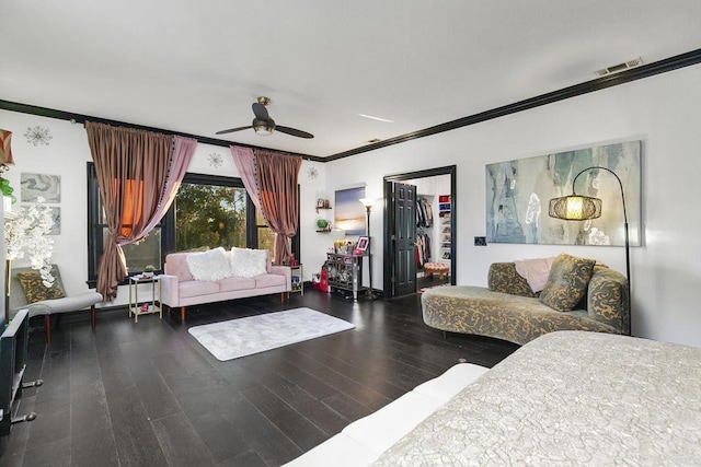
<instances>
[{"instance_id":1,"label":"white flower arrangement at the left edge","mask_svg":"<svg viewBox=\"0 0 701 467\"><path fill-rule=\"evenodd\" d=\"M38 197L36 205L22 208L16 215L4 220L4 242L8 248L8 260L30 257L32 269L37 269L44 285L54 285L51 276L51 254L54 240L47 236L54 226L51 208L44 205L45 199Z\"/></svg>"}]
</instances>

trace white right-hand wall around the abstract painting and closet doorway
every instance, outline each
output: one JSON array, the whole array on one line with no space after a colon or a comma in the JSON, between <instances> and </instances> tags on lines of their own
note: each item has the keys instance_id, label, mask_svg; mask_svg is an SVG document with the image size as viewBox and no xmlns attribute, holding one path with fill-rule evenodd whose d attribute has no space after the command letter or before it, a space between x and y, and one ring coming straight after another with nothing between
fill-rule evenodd
<instances>
[{"instance_id":1,"label":"white right-hand wall around the abstract painting and closet doorway","mask_svg":"<svg viewBox=\"0 0 701 467\"><path fill-rule=\"evenodd\" d=\"M466 90L469 92L469 90ZM334 180L367 176L368 196L382 195L384 175L457 164L457 282L486 284L493 261L554 256L562 250L625 270L622 247L473 246L485 235L490 163L623 140L643 140L645 244L632 248L633 334L701 347L701 67L583 95L532 110L331 162ZM364 167L372 167L367 171ZM378 206L381 206L378 203ZM381 209L372 235L382 234ZM382 287L382 243L375 242L376 287Z\"/></svg>"}]
</instances>

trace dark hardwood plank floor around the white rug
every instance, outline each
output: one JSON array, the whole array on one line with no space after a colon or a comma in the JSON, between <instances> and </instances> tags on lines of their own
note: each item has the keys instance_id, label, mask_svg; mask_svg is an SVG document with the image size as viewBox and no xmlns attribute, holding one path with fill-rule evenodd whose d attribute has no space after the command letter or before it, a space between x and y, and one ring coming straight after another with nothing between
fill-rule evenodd
<instances>
[{"instance_id":1,"label":"dark hardwood plank floor around the white rug","mask_svg":"<svg viewBox=\"0 0 701 467\"><path fill-rule=\"evenodd\" d=\"M220 362L189 326L308 306L349 331ZM62 317L46 346L32 320L25 389L1 466L278 466L458 362L518 348L428 328L420 295L359 301L308 290L193 307L187 323L124 310ZM34 326L36 326L34 328Z\"/></svg>"}]
</instances>

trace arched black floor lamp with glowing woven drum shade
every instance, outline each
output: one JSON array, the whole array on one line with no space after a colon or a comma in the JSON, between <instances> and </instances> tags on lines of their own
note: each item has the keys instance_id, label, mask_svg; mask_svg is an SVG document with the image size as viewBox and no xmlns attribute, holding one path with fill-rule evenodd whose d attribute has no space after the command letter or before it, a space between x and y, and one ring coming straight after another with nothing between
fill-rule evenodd
<instances>
[{"instance_id":1,"label":"arched black floor lamp with glowing woven drum shade","mask_svg":"<svg viewBox=\"0 0 701 467\"><path fill-rule=\"evenodd\" d=\"M619 187L621 188L621 201L623 202L623 226L625 229L625 279L628 279L628 301L630 314L632 308L631 303L633 301L631 297L631 247L628 234L628 212L625 211L625 196L623 195L623 183L621 182L621 178L616 174L616 172L607 167L601 167L598 165L587 167L574 177L574 180L572 182L572 195L563 196L561 198L553 198L550 200L548 214L551 218L563 219L565 221L586 221L589 219L600 218L602 201L599 198L577 195L574 189L579 175L584 174L587 171L595 170L606 171L613 175L618 180ZM628 334L630 335L630 319L628 326Z\"/></svg>"}]
</instances>

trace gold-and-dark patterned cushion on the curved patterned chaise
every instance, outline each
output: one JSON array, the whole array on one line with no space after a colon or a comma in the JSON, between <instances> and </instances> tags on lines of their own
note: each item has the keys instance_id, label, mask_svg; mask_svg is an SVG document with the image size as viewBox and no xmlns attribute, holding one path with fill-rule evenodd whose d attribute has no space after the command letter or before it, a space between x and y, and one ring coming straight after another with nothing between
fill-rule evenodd
<instances>
[{"instance_id":1,"label":"gold-and-dark patterned cushion on the curved patterned chaise","mask_svg":"<svg viewBox=\"0 0 701 467\"><path fill-rule=\"evenodd\" d=\"M587 291L596 260L561 253L552 261L539 300L559 312L572 311Z\"/></svg>"}]
</instances>

